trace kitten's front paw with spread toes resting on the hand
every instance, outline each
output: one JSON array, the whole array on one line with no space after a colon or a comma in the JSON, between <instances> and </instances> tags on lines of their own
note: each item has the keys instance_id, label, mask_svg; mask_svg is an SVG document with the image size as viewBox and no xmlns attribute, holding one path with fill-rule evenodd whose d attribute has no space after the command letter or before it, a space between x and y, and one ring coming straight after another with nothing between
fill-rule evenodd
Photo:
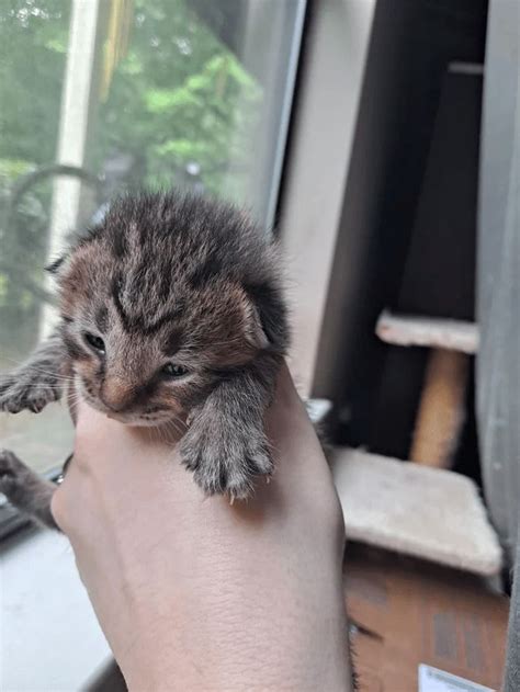
<instances>
[{"instance_id":1,"label":"kitten's front paw with spread toes resting on the hand","mask_svg":"<svg viewBox=\"0 0 520 692\"><path fill-rule=\"evenodd\" d=\"M183 464L205 495L228 494L247 499L255 476L270 476L273 463L263 430L208 426L197 420L181 442Z\"/></svg>"}]
</instances>

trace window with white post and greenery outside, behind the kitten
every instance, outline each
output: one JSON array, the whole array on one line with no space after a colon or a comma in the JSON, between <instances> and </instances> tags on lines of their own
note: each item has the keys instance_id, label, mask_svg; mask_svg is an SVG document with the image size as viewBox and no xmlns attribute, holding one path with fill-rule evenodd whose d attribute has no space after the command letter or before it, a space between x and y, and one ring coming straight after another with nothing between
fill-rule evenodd
<instances>
[{"instance_id":1,"label":"window with white post and greenery outside, behind the kitten","mask_svg":"<svg viewBox=\"0 0 520 692\"><path fill-rule=\"evenodd\" d=\"M304 0L0 3L0 368L48 333L43 268L110 197L180 185L273 220ZM38 470L70 450L64 407L0 416Z\"/></svg>"}]
</instances>

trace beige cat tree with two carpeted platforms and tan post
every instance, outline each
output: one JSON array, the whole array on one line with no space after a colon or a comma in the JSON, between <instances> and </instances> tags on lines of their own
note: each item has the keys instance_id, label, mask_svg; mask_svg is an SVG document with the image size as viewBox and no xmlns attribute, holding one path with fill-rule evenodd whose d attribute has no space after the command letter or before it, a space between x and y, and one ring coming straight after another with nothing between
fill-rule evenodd
<instances>
[{"instance_id":1,"label":"beige cat tree with two carpeted platforms and tan post","mask_svg":"<svg viewBox=\"0 0 520 692\"><path fill-rule=\"evenodd\" d=\"M477 329L468 322L384 314L376 331L389 343L450 358L478 349ZM448 375L427 378L412 462L337 449L336 486L348 538L489 577L500 572L502 551L476 484L449 469L464 387L452 370Z\"/></svg>"}]
</instances>

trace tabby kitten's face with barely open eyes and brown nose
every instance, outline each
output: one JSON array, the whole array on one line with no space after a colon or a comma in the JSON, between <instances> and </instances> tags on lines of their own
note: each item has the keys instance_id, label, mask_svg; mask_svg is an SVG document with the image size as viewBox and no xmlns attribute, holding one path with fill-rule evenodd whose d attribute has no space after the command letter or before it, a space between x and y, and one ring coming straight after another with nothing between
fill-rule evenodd
<instances>
[{"instance_id":1,"label":"tabby kitten's face with barely open eyes and brown nose","mask_svg":"<svg viewBox=\"0 0 520 692\"><path fill-rule=\"evenodd\" d=\"M154 258L128 264L97 241L74 252L59 283L78 390L128 424L178 419L265 345L255 307L225 277L197 287L161 276Z\"/></svg>"}]
</instances>

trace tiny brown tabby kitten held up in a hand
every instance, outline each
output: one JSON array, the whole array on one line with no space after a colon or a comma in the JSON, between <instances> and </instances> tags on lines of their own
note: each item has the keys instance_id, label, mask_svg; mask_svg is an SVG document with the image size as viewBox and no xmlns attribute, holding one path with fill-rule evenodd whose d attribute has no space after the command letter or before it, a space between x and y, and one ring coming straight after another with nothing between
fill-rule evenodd
<instances>
[{"instance_id":1,"label":"tiny brown tabby kitten held up in a hand","mask_svg":"<svg viewBox=\"0 0 520 692\"><path fill-rule=\"evenodd\" d=\"M56 332L0 378L0 410L41 411L74 377L129 426L188 416L182 463L206 495L247 498L273 470L263 430L289 343L278 248L242 212L177 192L120 198L50 268ZM53 524L53 487L10 452L0 491Z\"/></svg>"}]
</instances>

